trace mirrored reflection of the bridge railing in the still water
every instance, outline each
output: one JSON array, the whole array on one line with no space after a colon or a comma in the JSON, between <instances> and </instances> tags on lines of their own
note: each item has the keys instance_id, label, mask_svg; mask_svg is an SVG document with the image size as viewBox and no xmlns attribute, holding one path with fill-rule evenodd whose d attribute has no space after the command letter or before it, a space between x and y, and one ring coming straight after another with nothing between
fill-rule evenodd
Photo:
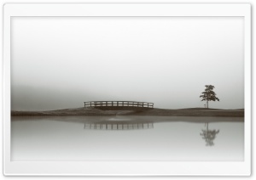
<instances>
[{"instance_id":1,"label":"mirrored reflection of the bridge railing in the still water","mask_svg":"<svg viewBox=\"0 0 256 180\"><path fill-rule=\"evenodd\" d=\"M147 123L84 123L84 129L90 130L135 130L152 129L153 122Z\"/></svg>"}]
</instances>

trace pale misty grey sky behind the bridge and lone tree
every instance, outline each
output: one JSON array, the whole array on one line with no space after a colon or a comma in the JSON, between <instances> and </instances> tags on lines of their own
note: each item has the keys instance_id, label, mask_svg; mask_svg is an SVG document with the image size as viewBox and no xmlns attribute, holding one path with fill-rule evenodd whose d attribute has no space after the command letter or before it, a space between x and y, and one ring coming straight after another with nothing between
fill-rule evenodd
<instances>
[{"instance_id":1,"label":"pale misty grey sky behind the bridge and lone tree","mask_svg":"<svg viewBox=\"0 0 256 180\"><path fill-rule=\"evenodd\" d=\"M133 100L155 108L244 108L240 17L13 17L11 108Z\"/></svg>"}]
</instances>

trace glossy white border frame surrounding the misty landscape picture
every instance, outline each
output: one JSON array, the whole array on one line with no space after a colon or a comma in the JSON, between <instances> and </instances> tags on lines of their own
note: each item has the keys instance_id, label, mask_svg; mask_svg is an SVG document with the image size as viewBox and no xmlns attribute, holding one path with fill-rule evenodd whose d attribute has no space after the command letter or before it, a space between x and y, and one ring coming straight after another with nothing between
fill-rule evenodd
<instances>
[{"instance_id":1,"label":"glossy white border frame surrounding the misty landscape picture","mask_svg":"<svg viewBox=\"0 0 256 180\"><path fill-rule=\"evenodd\" d=\"M249 176L251 174L251 5L249 3L7 3L3 6L3 14L3 174L5 176ZM244 161L11 161L10 20L12 16L243 17Z\"/></svg>"}]
</instances>

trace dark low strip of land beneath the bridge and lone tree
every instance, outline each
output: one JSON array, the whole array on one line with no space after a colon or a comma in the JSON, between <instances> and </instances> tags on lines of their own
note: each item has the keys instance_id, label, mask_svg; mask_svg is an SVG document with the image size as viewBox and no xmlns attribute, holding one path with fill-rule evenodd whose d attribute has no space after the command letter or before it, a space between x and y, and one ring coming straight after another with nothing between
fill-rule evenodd
<instances>
[{"instance_id":1,"label":"dark low strip of land beneath the bridge and lone tree","mask_svg":"<svg viewBox=\"0 0 256 180\"><path fill-rule=\"evenodd\" d=\"M96 108L77 108L47 111L11 111L14 116L44 116L44 115L181 115L181 116L237 116L243 117L244 110L221 110L206 108L189 108L179 110L166 109L133 109L133 110L99 110Z\"/></svg>"}]
</instances>

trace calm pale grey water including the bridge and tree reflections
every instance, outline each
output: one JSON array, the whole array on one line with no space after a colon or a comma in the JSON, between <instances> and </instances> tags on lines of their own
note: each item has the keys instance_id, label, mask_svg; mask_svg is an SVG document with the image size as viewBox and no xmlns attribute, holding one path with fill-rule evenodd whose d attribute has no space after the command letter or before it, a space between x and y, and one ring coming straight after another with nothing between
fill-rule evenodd
<instances>
[{"instance_id":1,"label":"calm pale grey water including the bridge and tree reflections","mask_svg":"<svg viewBox=\"0 0 256 180\"><path fill-rule=\"evenodd\" d=\"M243 160L243 157L243 117L12 117L11 122L12 160Z\"/></svg>"}]
</instances>

